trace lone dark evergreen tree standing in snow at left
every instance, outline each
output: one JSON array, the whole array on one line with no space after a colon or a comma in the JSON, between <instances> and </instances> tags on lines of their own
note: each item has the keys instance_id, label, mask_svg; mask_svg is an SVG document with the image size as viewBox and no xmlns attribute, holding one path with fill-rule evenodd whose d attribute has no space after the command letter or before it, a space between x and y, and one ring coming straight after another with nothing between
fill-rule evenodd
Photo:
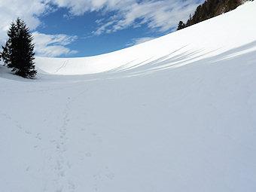
<instances>
[{"instance_id":1,"label":"lone dark evergreen tree standing in snow at left","mask_svg":"<svg viewBox=\"0 0 256 192\"><path fill-rule=\"evenodd\" d=\"M33 61L35 59L33 38L25 22L17 18L16 23L11 23L8 37L1 53L5 66L12 68L12 72L23 78L35 77L37 72Z\"/></svg>"}]
</instances>

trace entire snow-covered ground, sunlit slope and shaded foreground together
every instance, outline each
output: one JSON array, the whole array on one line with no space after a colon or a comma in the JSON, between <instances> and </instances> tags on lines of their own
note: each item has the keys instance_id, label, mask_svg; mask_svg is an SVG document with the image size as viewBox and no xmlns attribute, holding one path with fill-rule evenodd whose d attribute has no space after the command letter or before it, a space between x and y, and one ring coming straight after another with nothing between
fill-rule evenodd
<instances>
[{"instance_id":1,"label":"entire snow-covered ground, sunlit slope and shaded foreground together","mask_svg":"<svg viewBox=\"0 0 256 192\"><path fill-rule=\"evenodd\" d=\"M0 66L0 191L254 192L255 10L36 80Z\"/></svg>"}]
</instances>

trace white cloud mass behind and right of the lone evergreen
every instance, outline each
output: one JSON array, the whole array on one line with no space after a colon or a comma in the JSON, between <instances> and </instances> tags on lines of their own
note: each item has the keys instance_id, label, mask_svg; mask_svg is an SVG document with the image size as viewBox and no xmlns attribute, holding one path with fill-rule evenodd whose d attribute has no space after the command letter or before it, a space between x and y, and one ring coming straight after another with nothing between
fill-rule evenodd
<instances>
[{"instance_id":1,"label":"white cloud mass behind and right of the lone evergreen","mask_svg":"<svg viewBox=\"0 0 256 192\"><path fill-rule=\"evenodd\" d=\"M49 2L50 0L0 0L0 44L5 44L7 31L17 17L25 20L31 30L35 30L41 24L38 17L54 11ZM75 50L65 47L75 41L76 36L45 35L38 32L34 32L33 36L37 55L60 56L76 53Z\"/></svg>"}]
</instances>

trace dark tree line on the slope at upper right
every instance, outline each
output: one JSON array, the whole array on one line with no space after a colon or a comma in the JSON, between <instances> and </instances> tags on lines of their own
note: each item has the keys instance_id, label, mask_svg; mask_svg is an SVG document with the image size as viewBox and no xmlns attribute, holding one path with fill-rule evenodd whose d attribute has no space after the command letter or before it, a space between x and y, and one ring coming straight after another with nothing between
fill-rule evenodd
<instances>
[{"instance_id":1,"label":"dark tree line on the slope at upper right","mask_svg":"<svg viewBox=\"0 0 256 192\"><path fill-rule=\"evenodd\" d=\"M253 0L252 0L253 1ZM200 23L203 20L208 20L212 17L226 13L242 5L242 0L206 0L202 5L197 7L193 15L190 15L187 23L180 21L178 29L184 29L187 26L192 26Z\"/></svg>"}]
</instances>

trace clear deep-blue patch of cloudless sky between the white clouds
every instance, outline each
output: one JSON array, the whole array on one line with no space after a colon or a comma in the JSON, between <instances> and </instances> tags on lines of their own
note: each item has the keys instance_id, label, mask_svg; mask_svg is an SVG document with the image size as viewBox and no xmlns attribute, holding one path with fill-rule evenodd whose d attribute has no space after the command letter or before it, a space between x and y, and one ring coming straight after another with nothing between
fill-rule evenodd
<instances>
[{"instance_id":1,"label":"clear deep-blue patch of cloudless sky between the white clouds","mask_svg":"<svg viewBox=\"0 0 256 192\"><path fill-rule=\"evenodd\" d=\"M77 36L75 41L68 45L71 50L78 51L72 56L92 56L108 53L129 47L141 38L148 40L168 33L168 31L159 32L156 29L148 29L146 24L142 24L142 26L136 28L129 27L117 32L104 32L100 35L93 35L92 32L97 29L96 20L102 18L99 13L92 12L83 16L63 18L63 15L67 13L69 11L66 8L61 8L53 14L41 17L44 25L39 26L37 30L45 34L64 33L70 36ZM104 17L109 17L110 14L106 14Z\"/></svg>"}]
</instances>

